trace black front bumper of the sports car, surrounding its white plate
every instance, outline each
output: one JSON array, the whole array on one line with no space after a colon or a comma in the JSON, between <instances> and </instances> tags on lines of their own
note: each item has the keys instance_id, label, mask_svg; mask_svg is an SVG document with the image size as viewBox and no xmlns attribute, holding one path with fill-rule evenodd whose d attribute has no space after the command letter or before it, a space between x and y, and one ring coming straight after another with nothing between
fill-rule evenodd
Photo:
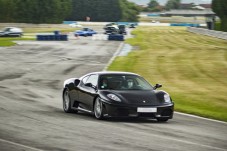
<instances>
[{"instance_id":1,"label":"black front bumper of the sports car, surrounding its white plate","mask_svg":"<svg viewBox=\"0 0 227 151\"><path fill-rule=\"evenodd\" d=\"M148 117L148 118L173 118L174 104L160 106L120 106L103 102L104 116L108 117ZM138 107L157 108L156 112L137 112Z\"/></svg>"}]
</instances>

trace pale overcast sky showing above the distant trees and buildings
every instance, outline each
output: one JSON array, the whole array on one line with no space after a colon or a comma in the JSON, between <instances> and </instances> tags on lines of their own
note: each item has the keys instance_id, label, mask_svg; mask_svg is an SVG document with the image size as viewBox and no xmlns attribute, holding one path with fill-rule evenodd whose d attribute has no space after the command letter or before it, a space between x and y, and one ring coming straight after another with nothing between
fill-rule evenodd
<instances>
[{"instance_id":1,"label":"pale overcast sky showing above the distant trees and buildings","mask_svg":"<svg viewBox=\"0 0 227 151\"><path fill-rule=\"evenodd\" d=\"M150 0L128 0L139 5L146 5ZM156 0L160 5L165 5L168 0ZM212 0L181 0L182 3L210 4Z\"/></svg>"}]
</instances>

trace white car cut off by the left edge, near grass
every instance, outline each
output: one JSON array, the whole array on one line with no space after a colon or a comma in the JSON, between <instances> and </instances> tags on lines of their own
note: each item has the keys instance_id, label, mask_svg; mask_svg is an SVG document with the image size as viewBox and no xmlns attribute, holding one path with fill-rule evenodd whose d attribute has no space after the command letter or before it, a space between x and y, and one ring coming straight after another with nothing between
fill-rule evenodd
<instances>
[{"instance_id":1,"label":"white car cut off by the left edge, near grass","mask_svg":"<svg viewBox=\"0 0 227 151\"><path fill-rule=\"evenodd\" d=\"M0 37L21 37L23 30L17 27L5 27L0 31Z\"/></svg>"}]
</instances>

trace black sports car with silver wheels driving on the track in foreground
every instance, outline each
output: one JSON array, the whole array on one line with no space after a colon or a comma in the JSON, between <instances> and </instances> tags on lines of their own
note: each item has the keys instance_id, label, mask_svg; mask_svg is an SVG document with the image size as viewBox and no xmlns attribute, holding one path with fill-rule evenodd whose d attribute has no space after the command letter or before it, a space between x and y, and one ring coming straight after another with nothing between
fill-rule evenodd
<instances>
[{"instance_id":1,"label":"black sports car with silver wheels driving on the track in foreground","mask_svg":"<svg viewBox=\"0 0 227 151\"><path fill-rule=\"evenodd\" d=\"M174 103L168 93L156 90L143 77L130 72L93 72L64 81L65 112L88 112L104 117L150 117L167 121Z\"/></svg>"}]
</instances>

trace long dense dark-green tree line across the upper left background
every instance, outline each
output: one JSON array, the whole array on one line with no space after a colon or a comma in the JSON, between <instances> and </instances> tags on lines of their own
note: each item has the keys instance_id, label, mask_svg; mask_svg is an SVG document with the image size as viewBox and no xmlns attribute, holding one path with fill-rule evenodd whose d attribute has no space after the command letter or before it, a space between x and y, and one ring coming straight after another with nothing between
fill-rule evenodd
<instances>
[{"instance_id":1,"label":"long dense dark-green tree line across the upper left background","mask_svg":"<svg viewBox=\"0 0 227 151\"><path fill-rule=\"evenodd\" d=\"M139 11L127 0L0 0L0 22L138 21Z\"/></svg>"}]
</instances>

